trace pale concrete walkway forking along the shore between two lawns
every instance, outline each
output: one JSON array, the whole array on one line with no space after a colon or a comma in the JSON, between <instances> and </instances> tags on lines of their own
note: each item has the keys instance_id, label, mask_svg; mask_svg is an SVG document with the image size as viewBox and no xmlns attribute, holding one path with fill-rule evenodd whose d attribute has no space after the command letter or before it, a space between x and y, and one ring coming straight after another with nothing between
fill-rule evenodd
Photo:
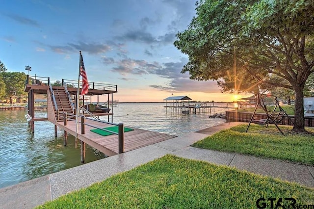
<instances>
[{"instance_id":1,"label":"pale concrete walkway forking along the shore between two lawns","mask_svg":"<svg viewBox=\"0 0 314 209\"><path fill-rule=\"evenodd\" d=\"M314 166L274 159L190 147L208 135L240 123L223 123L147 147L107 157L78 167L0 189L0 209L31 209L70 191L101 182L166 154L234 166L252 173L280 178L314 188ZM200 133L203 132L203 133Z\"/></svg>"}]
</instances>

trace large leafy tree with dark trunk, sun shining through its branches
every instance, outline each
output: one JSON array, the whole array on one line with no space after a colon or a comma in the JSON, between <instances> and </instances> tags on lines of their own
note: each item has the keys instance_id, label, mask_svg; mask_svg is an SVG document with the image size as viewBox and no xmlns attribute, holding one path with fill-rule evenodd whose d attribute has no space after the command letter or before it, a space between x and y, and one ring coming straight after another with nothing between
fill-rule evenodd
<instances>
[{"instance_id":1,"label":"large leafy tree with dark trunk, sun shining through its branches","mask_svg":"<svg viewBox=\"0 0 314 209\"><path fill-rule=\"evenodd\" d=\"M304 131L303 89L314 72L313 11L313 0L200 0L175 41L189 56L182 73L218 80L241 71L245 83L293 89L293 130Z\"/></svg>"}]
</instances>

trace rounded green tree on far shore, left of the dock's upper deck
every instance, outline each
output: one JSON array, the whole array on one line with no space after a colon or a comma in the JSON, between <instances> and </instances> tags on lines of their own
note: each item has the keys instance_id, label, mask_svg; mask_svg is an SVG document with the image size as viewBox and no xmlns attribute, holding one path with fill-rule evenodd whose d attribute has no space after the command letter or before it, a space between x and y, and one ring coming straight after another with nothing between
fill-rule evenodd
<instances>
[{"instance_id":1,"label":"rounded green tree on far shore, left of the dock's upper deck","mask_svg":"<svg viewBox=\"0 0 314 209\"><path fill-rule=\"evenodd\" d=\"M21 72L2 72L3 81L5 83L5 97L10 99L12 104L13 96L24 96L24 84L26 74Z\"/></svg>"}]
</instances>

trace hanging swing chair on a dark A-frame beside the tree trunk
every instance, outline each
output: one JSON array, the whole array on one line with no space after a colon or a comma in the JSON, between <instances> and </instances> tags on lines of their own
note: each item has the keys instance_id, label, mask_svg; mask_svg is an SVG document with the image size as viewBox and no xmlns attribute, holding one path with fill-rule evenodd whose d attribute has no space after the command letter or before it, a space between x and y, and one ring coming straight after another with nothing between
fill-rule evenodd
<instances>
[{"instance_id":1,"label":"hanging swing chair on a dark A-frame beside the tree trunk","mask_svg":"<svg viewBox=\"0 0 314 209\"><path fill-rule=\"evenodd\" d=\"M273 109L272 112L269 113L268 109L267 109L267 106L265 104L265 98L267 97L273 97L276 101L276 105ZM256 98L256 107L254 109L254 112L253 112L253 115L251 117L251 120L249 122L249 125L247 126L246 128L246 131L247 132L249 130L249 127L251 125L251 123L255 123L255 124L260 124L260 125L266 125L266 128L268 127L269 124L274 124L277 129L283 134L283 131L280 130L280 128L278 127L278 124L281 123L281 121L285 118L285 116L288 117L288 119L290 120L290 122L293 124L293 121L291 120L291 118L288 116L287 112L279 105L279 102L278 102L278 99L276 96L273 96L273 95L265 95L265 94L258 94L257 95L257 98ZM257 110L257 108L261 106L261 108L264 110L264 112L266 113L266 116L267 118L265 119L255 119L254 118L254 115L255 115L255 112Z\"/></svg>"}]
</instances>

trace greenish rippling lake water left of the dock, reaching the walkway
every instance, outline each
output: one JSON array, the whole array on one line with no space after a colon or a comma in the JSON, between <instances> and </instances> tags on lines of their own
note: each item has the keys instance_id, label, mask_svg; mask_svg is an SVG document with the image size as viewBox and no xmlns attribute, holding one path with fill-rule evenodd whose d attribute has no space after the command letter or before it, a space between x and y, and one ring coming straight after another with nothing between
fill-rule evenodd
<instances>
[{"instance_id":1,"label":"greenish rippling lake water left of the dock, reaching the walkway","mask_svg":"<svg viewBox=\"0 0 314 209\"><path fill-rule=\"evenodd\" d=\"M25 114L0 111L0 188L80 165L80 147L75 149L73 136L68 135L64 147L63 131L58 129L54 137L54 125L48 121L35 122L31 133ZM86 145L85 162L104 157Z\"/></svg>"}]
</instances>

